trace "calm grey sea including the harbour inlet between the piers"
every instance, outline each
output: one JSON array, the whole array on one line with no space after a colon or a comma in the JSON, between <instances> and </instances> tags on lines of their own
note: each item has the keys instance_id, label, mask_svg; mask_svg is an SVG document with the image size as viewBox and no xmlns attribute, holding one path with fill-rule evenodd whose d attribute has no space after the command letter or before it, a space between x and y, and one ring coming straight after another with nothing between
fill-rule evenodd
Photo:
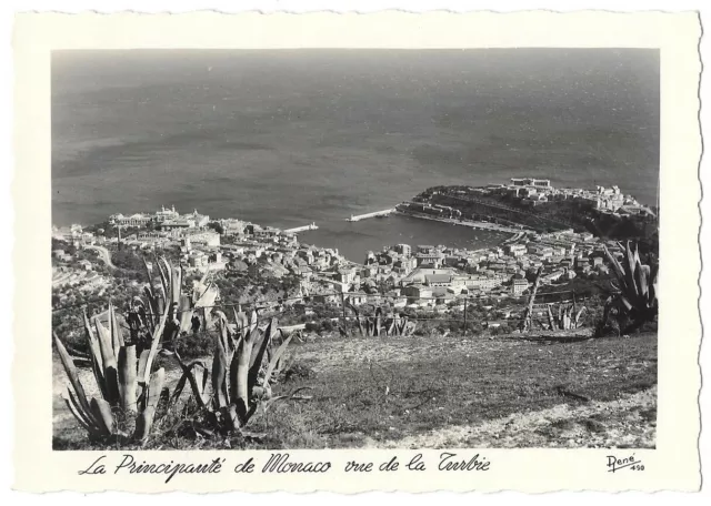
<instances>
[{"instance_id":1,"label":"calm grey sea including the harbour inlet between the piers","mask_svg":"<svg viewBox=\"0 0 711 506\"><path fill-rule=\"evenodd\" d=\"M52 53L52 222L239 217L356 262L505 235L391 215L434 185L514 176L655 204L649 49L101 50Z\"/></svg>"}]
</instances>

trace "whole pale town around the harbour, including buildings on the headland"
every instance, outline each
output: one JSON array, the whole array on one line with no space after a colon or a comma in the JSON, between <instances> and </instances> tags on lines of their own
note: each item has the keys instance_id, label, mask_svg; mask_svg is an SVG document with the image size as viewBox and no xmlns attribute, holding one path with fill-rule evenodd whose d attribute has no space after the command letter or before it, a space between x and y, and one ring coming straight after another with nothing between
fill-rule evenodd
<instances>
[{"instance_id":1,"label":"whole pale town around the harbour, including buildings on the headland","mask_svg":"<svg viewBox=\"0 0 711 506\"><path fill-rule=\"evenodd\" d=\"M505 195L509 200L518 199L521 205L545 202L540 200L545 196L549 201L588 202L591 208L605 212L625 209L638 210L635 215L652 213L631 196L622 195L617 186L599 186L595 192L555 190L549 180L538 179L512 179L508 185L483 189L439 189L423 195L458 195L461 199ZM180 214L174 208L161 208L152 214L112 214L106 223L87 229L81 225L54 229L53 236L77 250L96 250L104 262L110 262L109 250L154 252L179 260L188 272L213 271L228 277L241 274L276 279L294 276L299 281L299 292L304 296L342 293L358 305L378 294L391 297L395 306L435 311L447 311L458 305L462 297L521 296L530 292L539 272L542 285L567 283L575 277L604 277L609 274L609 265L603 246L607 245L615 256L622 254L617 241L602 240L589 231L557 226L553 231L541 232L514 222L481 221L480 214L468 214L454 206L424 204L424 200L419 196L417 209L421 213L433 213L430 217L473 226L494 225L512 235L502 244L480 250L394 244L379 252L367 252L363 263L358 264L344 259L337 249L304 244L293 232L239 219L210 220L197 210ZM414 204L401 206L399 212L411 210ZM432 209L428 211L425 205ZM316 224L303 229L311 226ZM67 269L72 264L72 256L67 251L53 251L53 259L56 286L70 289L72 280L91 280L92 285L101 285L102 281L90 274L92 262L86 257L80 264L74 262L81 274ZM338 303L338 297L329 298L329 302Z\"/></svg>"}]
</instances>

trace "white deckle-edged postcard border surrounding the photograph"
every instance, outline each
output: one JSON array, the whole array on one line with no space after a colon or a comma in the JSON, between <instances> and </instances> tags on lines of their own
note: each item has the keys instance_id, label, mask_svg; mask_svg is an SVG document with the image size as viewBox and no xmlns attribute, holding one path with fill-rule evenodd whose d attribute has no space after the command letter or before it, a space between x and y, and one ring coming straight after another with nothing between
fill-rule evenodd
<instances>
[{"instance_id":1,"label":"white deckle-edged postcard border surrounding the photograph","mask_svg":"<svg viewBox=\"0 0 711 506\"><path fill-rule=\"evenodd\" d=\"M23 490L133 492L291 490L694 490L700 484L701 324L698 232L701 154L697 51L698 16L544 11L412 14L22 14L16 58L16 302L13 388L16 483ZM657 449L634 451L643 473L607 473L607 449L461 449L485 457L487 472L437 470L440 451L293 451L294 461L332 463L319 475L243 476L234 465L271 452L131 452L137 459L203 463L224 458L221 473L160 476L80 476L102 455L51 449L50 297L50 51L110 48L475 48L614 47L661 51L661 241L659 418ZM129 453L129 452L126 452ZM397 455L401 466L423 454L427 470L343 473L347 461L379 465ZM116 466L123 452L107 452ZM259 466L258 466L259 467ZM107 465L107 469L111 466Z\"/></svg>"}]
</instances>

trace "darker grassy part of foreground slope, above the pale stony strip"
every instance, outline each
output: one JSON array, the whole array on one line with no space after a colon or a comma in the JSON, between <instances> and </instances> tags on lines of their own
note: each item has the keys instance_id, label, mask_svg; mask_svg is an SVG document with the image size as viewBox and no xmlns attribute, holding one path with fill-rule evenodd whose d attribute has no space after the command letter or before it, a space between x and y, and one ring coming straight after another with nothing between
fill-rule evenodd
<instances>
[{"instance_id":1,"label":"darker grassy part of foreground slope, above the pale stony strip","mask_svg":"<svg viewBox=\"0 0 711 506\"><path fill-rule=\"evenodd\" d=\"M612 402L657 384L655 335L564 344L354 338L308 344L299 356L317 377L284 388L311 386L314 398L281 404L254 427L286 447L379 445L561 404Z\"/></svg>"}]
</instances>

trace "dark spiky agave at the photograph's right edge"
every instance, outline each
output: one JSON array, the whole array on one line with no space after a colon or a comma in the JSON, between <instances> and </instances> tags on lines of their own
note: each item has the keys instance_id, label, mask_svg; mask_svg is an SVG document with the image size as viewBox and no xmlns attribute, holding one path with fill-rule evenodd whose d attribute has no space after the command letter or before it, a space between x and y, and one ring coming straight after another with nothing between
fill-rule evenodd
<instances>
[{"instance_id":1,"label":"dark spiky agave at the photograph's right edge","mask_svg":"<svg viewBox=\"0 0 711 506\"><path fill-rule=\"evenodd\" d=\"M657 301L658 265L642 264L637 245L628 241L623 249L622 262L619 262L610 251L604 247L608 261L617 277L613 284L615 294L611 295L604 306L604 313L600 327L602 327L614 308L619 315L627 315L630 323L622 330L623 334L635 331L647 322L653 322L659 313Z\"/></svg>"}]
</instances>

